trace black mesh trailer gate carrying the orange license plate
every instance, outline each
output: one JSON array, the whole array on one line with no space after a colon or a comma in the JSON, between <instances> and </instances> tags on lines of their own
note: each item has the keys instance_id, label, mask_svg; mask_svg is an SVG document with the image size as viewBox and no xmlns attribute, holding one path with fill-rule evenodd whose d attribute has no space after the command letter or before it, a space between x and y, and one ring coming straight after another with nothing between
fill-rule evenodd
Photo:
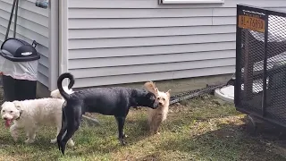
<instances>
[{"instance_id":1,"label":"black mesh trailer gate carrying the orange license plate","mask_svg":"<svg viewBox=\"0 0 286 161\"><path fill-rule=\"evenodd\" d=\"M237 109L286 127L286 13L238 5L237 20Z\"/></svg>"}]
</instances>

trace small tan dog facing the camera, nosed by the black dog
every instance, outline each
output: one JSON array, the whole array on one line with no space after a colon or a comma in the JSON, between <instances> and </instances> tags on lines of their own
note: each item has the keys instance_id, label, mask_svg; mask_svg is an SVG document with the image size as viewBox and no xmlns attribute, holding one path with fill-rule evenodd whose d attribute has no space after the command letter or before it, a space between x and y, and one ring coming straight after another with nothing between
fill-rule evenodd
<instances>
[{"instance_id":1,"label":"small tan dog facing the camera, nosed by the black dog","mask_svg":"<svg viewBox=\"0 0 286 161\"><path fill-rule=\"evenodd\" d=\"M169 89L167 92L159 91L159 89L156 88L155 83L152 81L145 83L145 87L150 92L155 93L156 101L158 101L159 104L156 109L147 109L148 129L152 134L156 134L158 133L158 129L161 123L163 123L167 119L171 89Z\"/></svg>"}]
</instances>

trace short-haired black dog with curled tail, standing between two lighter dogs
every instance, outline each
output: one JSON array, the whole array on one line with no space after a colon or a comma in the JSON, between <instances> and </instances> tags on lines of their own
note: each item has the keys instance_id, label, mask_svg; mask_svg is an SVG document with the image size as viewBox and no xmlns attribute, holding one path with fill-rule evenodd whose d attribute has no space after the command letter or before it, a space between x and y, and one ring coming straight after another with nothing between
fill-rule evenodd
<instances>
[{"instance_id":1,"label":"short-haired black dog with curled tail, standing between two lighter dogs","mask_svg":"<svg viewBox=\"0 0 286 161\"><path fill-rule=\"evenodd\" d=\"M74 78L69 72L63 73L57 80L57 88L66 100L66 106L63 107L62 129L57 136L57 144L63 155L67 141L79 129L82 114L85 112L114 115L118 124L118 139L124 145L123 126L130 106L147 106L154 109L158 106L155 94L143 89L94 88L83 89L69 95L63 90L62 82L65 78L70 79L69 89L74 84Z\"/></svg>"}]
</instances>

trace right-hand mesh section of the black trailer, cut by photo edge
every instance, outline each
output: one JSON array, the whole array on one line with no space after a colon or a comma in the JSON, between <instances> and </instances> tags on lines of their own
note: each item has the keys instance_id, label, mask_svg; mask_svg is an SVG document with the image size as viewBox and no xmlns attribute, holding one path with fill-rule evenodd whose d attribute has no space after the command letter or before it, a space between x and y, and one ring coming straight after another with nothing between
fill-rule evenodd
<instances>
[{"instance_id":1,"label":"right-hand mesh section of the black trailer, cut by photo edge","mask_svg":"<svg viewBox=\"0 0 286 161\"><path fill-rule=\"evenodd\" d=\"M286 123L286 19L268 16L266 116Z\"/></svg>"}]
</instances>

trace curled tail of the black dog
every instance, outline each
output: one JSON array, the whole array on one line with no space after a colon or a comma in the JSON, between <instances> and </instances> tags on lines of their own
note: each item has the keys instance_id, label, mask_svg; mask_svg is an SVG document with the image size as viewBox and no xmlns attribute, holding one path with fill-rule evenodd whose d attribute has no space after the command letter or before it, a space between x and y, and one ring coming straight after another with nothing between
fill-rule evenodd
<instances>
[{"instance_id":1,"label":"curled tail of the black dog","mask_svg":"<svg viewBox=\"0 0 286 161\"><path fill-rule=\"evenodd\" d=\"M63 96L63 98L65 100L70 97L70 95L63 90L63 80L66 79L66 78L68 78L70 80L70 83L68 85L68 89L71 89L73 84L74 84L74 78L73 78L73 75L71 75L70 72L64 72L57 79L57 89L59 89L61 95Z\"/></svg>"}]
</instances>

